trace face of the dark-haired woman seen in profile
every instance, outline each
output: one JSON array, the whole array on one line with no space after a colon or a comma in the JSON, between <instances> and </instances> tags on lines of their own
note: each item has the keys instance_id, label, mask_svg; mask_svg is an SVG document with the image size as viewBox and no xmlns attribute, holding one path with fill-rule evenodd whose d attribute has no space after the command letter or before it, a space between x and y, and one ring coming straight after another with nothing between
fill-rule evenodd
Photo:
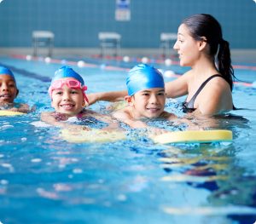
<instances>
[{"instance_id":1,"label":"face of the dark-haired woman seen in profile","mask_svg":"<svg viewBox=\"0 0 256 224\"><path fill-rule=\"evenodd\" d=\"M200 41L190 36L189 29L184 24L178 27L177 41L173 49L177 50L181 66L194 66L201 54Z\"/></svg>"}]
</instances>

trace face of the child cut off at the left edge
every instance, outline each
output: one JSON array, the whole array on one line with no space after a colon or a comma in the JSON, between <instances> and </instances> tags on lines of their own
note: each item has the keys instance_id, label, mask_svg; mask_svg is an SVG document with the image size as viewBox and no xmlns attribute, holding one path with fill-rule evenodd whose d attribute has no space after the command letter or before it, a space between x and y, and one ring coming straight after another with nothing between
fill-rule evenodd
<instances>
[{"instance_id":1,"label":"face of the child cut off at the left edge","mask_svg":"<svg viewBox=\"0 0 256 224\"><path fill-rule=\"evenodd\" d=\"M13 103L18 95L18 89L14 78L4 74L0 75L0 103Z\"/></svg>"}]
</instances>

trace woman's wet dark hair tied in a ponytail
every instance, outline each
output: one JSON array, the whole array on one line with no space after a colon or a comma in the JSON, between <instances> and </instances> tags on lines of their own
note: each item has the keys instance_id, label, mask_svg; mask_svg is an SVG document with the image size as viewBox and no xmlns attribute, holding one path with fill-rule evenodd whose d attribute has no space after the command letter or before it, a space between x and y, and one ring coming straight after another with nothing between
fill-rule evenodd
<instances>
[{"instance_id":1,"label":"woman's wet dark hair tied in a ponytail","mask_svg":"<svg viewBox=\"0 0 256 224\"><path fill-rule=\"evenodd\" d=\"M231 65L230 43L224 40L218 20L211 14L194 14L184 19L183 24L188 27L191 37L195 40L206 38L210 56L214 58L218 53L216 59L218 72L230 84L230 89L233 89L233 79L236 77Z\"/></svg>"}]
</instances>

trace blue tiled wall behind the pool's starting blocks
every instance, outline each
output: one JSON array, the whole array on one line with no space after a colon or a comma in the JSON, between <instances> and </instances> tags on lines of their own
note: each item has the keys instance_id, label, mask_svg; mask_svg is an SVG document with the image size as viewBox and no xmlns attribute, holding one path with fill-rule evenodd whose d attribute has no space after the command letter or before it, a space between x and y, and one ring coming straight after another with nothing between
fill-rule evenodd
<instances>
[{"instance_id":1,"label":"blue tiled wall behind the pool's starting blocks","mask_svg":"<svg viewBox=\"0 0 256 224\"><path fill-rule=\"evenodd\" d=\"M3 0L0 47L30 47L33 30L55 33L61 48L98 47L98 32L119 32L124 48L158 48L160 32L177 32L196 13L215 16L232 49L256 49L253 0L131 0L131 21L114 19L115 0Z\"/></svg>"}]
</instances>

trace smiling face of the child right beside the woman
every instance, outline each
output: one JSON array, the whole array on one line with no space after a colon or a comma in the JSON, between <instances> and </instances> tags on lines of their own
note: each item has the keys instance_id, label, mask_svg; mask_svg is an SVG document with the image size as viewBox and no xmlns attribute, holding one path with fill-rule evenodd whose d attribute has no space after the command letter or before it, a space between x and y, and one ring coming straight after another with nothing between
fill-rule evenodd
<instances>
[{"instance_id":1,"label":"smiling face of the child right beside the woman","mask_svg":"<svg viewBox=\"0 0 256 224\"><path fill-rule=\"evenodd\" d=\"M131 96L135 118L159 118L164 112L166 93L163 88L143 89Z\"/></svg>"}]
</instances>

